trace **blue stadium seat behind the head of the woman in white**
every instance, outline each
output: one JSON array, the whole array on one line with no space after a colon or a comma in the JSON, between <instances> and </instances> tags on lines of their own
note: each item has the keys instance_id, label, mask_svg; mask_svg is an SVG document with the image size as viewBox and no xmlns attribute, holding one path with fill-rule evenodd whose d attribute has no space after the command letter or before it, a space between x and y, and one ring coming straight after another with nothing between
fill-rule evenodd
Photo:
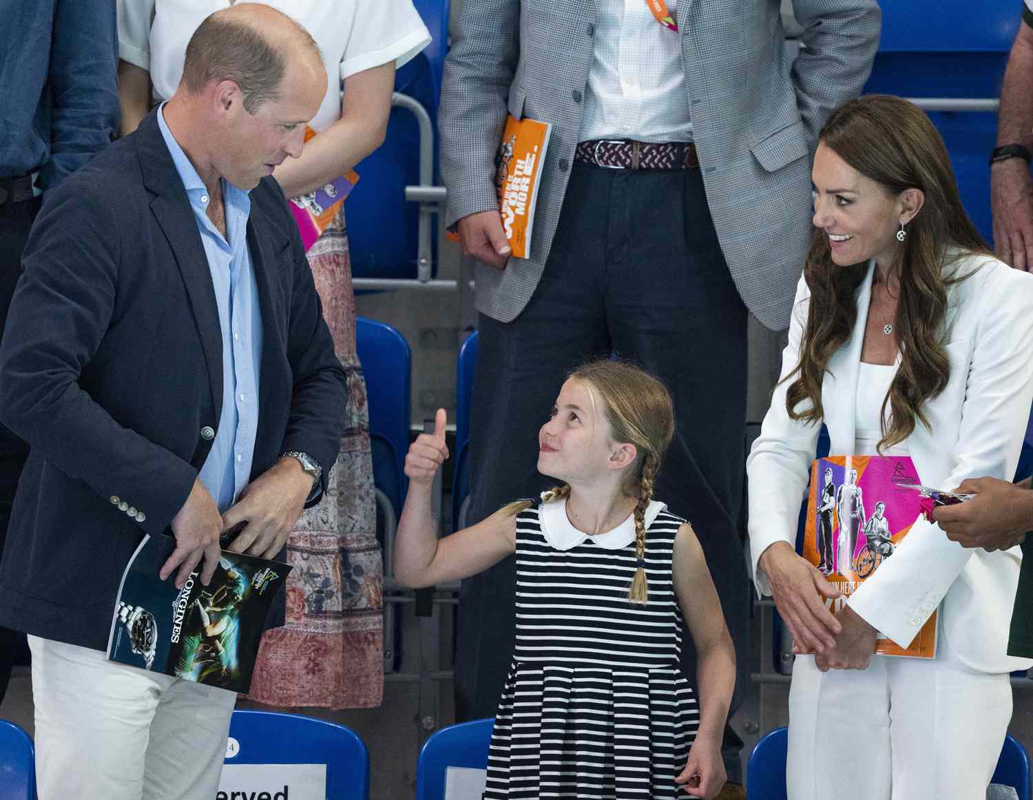
<instances>
[{"instance_id":1,"label":"blue stadium seat behind the head of the woman in white","mask_svg":"<svg viewBox=\"0 0 1033 800\"><path fill-rule=\"evenodd\" d=\"M890 2L882 7L882 37L866 93L903 97L996 98L1019 29L1021 3L983 0L977 23L968 0ZM946 141L965 207L988 242L990 167L997 115L933 111Z\"/></svg>"}]
</instances>

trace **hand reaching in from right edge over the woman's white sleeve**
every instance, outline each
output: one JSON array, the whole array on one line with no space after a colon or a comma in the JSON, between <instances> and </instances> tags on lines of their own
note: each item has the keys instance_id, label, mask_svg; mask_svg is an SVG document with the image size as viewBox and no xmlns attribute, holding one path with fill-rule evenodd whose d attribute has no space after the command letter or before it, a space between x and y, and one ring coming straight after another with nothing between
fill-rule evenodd
<instances>
[{"instance_id":1,"label":"hand reaching in from right edge over the woman's white sleeve","mask_svg":"<svg viewBox=\"0 0 1033 800\"><path fill-rule=\"evenodd\" d=\"M998 478L969 478L954 489L975 494L953 506L936 506L933 519L947 539L963 547L1006 550L1033 530L1033 491Z\"/></svg>"}]
</instances>

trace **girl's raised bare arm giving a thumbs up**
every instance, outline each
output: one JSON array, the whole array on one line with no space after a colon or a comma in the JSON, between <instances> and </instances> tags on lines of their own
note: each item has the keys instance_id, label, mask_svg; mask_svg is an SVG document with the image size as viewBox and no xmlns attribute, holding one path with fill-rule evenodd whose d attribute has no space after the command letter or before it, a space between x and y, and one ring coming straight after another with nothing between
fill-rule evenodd
<instances>
[{"instance_id":1,"label":"girl's raised bare arm giving a thumbs up","mask_svg":"<svg viewBox=\"0 0 1033 800\"><path fill-rule=\"evenodd\" d=\"M444 409L438 409L434 434L420 434L405 457L409 493L398 523L395 576L414 588L476 575L516 549L516 516L504 510L438 539L431 514L431 486L448 457L445 422Z\"/></svg>"}]
</instances>

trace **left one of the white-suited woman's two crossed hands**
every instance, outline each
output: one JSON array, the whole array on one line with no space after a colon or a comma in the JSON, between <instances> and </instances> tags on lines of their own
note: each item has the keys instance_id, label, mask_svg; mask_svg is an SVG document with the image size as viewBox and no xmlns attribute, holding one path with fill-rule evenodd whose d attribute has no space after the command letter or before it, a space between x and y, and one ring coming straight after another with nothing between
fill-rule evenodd
<instances>
[{"instance_id":1,"label":"left one of the white-suited woman's two crossed hands","mask_svg":"<svg viewBox=\"0 0 1033 800\"><path fill-rule=\"evenodd\" d=\"M772 597L803 652L822 652L836 645L840 623L819 598L838 598L817 568L796 555L788 542L776 542L760 554L758 567L772 585Z\"/></svg>"}]
</instances>

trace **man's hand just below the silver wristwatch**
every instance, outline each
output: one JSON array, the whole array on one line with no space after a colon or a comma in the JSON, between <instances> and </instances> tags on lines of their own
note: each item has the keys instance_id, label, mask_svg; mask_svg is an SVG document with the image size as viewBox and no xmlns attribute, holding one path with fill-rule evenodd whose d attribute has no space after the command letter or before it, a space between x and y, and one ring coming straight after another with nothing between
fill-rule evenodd
<instances>
[{"instance_id":1,"label":"man's hand just below the silver wristwatch","mask_svg":"<svg viewBox=\"0 0 1033 800\"><path fill-rule=\"evenodd\" d=\"M296 458L288 455L278 460L245 486L222 515L223 531L246 522L226 549L272 558L286 544L311 491L312 476Z\"/></svg>"}]
</instances>

